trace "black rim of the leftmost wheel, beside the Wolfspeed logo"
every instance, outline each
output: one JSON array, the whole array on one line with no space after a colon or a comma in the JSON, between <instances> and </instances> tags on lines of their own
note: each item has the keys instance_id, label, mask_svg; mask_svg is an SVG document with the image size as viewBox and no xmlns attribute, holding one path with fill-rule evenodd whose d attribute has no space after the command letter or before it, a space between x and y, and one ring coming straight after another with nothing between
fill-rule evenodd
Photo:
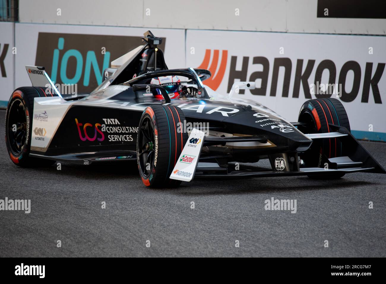
<instances>
[{"instance_id":1,"label":"black rim of the leftmost wheel, beside the Wolfspeed logo","mask_svg":"<svg viewBox=\"0 0 386 284\"><path fill-rule=\"evenodd\" d=\"M27 114L20 99L15 99L8 115L8 143L14 155L19 155L27 139Z\"/></svg>"}]
</instances>

